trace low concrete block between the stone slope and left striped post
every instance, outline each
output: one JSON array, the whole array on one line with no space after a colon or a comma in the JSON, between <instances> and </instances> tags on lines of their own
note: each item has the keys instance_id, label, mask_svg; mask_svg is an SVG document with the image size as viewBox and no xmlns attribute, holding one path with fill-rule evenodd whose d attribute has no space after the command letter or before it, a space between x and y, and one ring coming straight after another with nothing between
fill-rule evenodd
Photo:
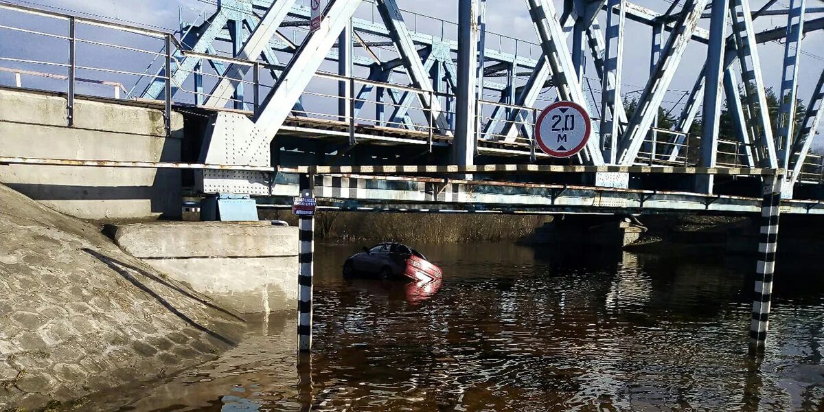
<instances>
[{"instance_id":1,"label":"low concrete block between the stone slope and left striped post","mask_svg":"<svg viewBox=\"0 0 824 412\"><path fill-rule=\"evenodd\" d=\"M113 225L115 242L148 265L243 313L293 310L297 227L269 222Z\"/></svg>"}]
</instances>

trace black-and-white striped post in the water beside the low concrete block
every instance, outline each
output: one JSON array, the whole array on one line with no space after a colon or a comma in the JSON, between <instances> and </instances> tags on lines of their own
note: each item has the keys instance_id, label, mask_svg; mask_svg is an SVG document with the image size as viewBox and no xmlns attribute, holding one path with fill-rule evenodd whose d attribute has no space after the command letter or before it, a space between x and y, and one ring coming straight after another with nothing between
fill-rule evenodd
<instances>
[{"instance_id":1,"label":"black-and-white striped post in the water beside the low concrete block","mask_svg":"<svg viewBox=\"0 0 824 412\"><path fill-rule=\"evenodd\" d=\"M301 175L301 197L312 197L311 178L311 175ZM306 353L311 350L311 297L312 273L314 270L313 255L315 252L315 218L314 216L301 216L298 221L300 248L297 252L297 261L300 265L300 274L297 275L297 283L300 285L300 297L298 297L297 301L297 351Z\"/></svg>"}]
</instances>

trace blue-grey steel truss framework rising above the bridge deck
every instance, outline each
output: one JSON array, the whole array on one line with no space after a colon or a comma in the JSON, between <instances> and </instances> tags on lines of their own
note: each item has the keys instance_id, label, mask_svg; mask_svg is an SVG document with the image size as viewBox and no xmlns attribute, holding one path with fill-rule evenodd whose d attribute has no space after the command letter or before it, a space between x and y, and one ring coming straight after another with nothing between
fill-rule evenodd
<instances>
[{"instance_id":1,"label":"blue-grey steel truss framework rising above the bridge deck","mask_svg":"<svg viewBox=\"0 0 824 412\"><path fill-rule=\"evenodd\" d=\"M213 53L216 41L227 40L232 42L236 57L260 59L265 63L278 63L275 53L292 55L282 73L272 71L276 77L274 88L257 110L254 128L260 133L256 139L261 141L271 140L278 133L293 105L297 111L302 111L302 91L327 59L338 62L339 73L343 76L352 76L353 67L368 67L370 80L391 82L392 74L400 73L408 78L410 87L438 94L438 98L427 100L410 91L386 91L381 87L365 85L354 91L353 113L344 103L339 104L338 111L340 119L358 115L363 101L377 89L377 99L395 107L388 119L383 114L383 108L379 108L381 113L376 115L383 124L414 130L410 107L417 101L424 113L433 119L438 133L454 133L452 160L457 164L473 164L477 152L476 140L479 136L494 133L496 129L501 130L499 134L505 143L518 138L531 138L530 128L523 125L529 112L518 110L515 106L534 107L538 95L551 87L558 98L576 101L589 107L591 112L600 114L601 124L594 128L599 136L591 138L584 156L579 157L579 162L583 164L630 166L639 162L639 152L642 150L649 152L649 162L678 162L689 156L683 149L688 143L686 133L691 129L698 111L702 110L705 130L697 161L700 166L715 166L719 115L721 105L726 100L736 125L734 138L742 145L737 149L740 150L742 164L786 168L789 170L787 179L794 183L798 180L824 111L822 73L822 81L812 92L801 126L795 130L794 122L786 121L794 119L794 96L807 94L798 91L797 57L802 48L802 33L824 26L821 18L810 18L814 16L812 13L805 15L807 2L803 0L793 0L789 9L784 10L776 8L775 2L767 2L756 12L752 12L748 0L714 1L708 12L705 8L709 0L674 2L666 12L654 12L625 0L566 0L562 10L555 10L555 4L550 0L527 0L526 7L540 39L538 47L542 54L539 59L528 59L486 47L488 36L482 12L485 10L485 0L459 2L458 41L436 40L433 35L410 30L396 0L377 0L381 21L353 18L360 0L330 0L321 32L308 35L297 44L291 44L279 32L288 27L307 25L308 11L296 6L294 0L277 0L274 4L272 0L234 0L232 9L225 6L227 3L223 2L224 7L203 25L187 27L182 40L190 49L200 53ZM238 13L238 8L246 14ZM811 8L809 11L822 10ZM606 15L606 27L603 29L598 21L600 13ZM756 33L753 20L765 15L786 15L788 25L784 29ZM698 26L700 20L705 18L709 19L710 30ZM650 79L640 96L638 110L628 117L621 100L620 82L625 26L630 21L650 27L653 45L650 50ZM248 35L238 32L237 27L241 26L238 22L247 27L250 31ZM724 33L728 24L733 27L729 35ZM386 41L363 40L363 36L367 35ZM770 119L756 44L781 38L786 39L780 95L783 105L779 119ZM245 41L239 42L240 39ZM338 39L339 42L336 41ZM655 129L658 110L681 64L686 46L691 42L707 44L708 63L696 79L695 87L673 126L673 132L677 132L674 133L675 138L667 140ZM369 56L354 54L351 47L342 47L341 44L354 44ZM381 61L372 51L372 48L387 46L393 47L400 57ZM480 49L480 53L475 48ZM593 65L601 80L600 99L594 95L590 98L583 89L581 68L585 51L592 55ZM176 84L184 82L195 71L198 62L195 59L180 59L173 73ZM733 66L736 62L737 65ZM222 79L211 93L204 93L210 95L204 105L218 108L234 101L232 105L242 108L242 103L238 105L237 102L243 100L243 91L238 87L242 86L242 82L232 82L231 78L242 79L247 67L213 64L213 68L229 78ZM521 76L527 77L526 80L518 80ZM500 77L504 78L503 82L499 81ZM202 85L202 80L196 80L199 86ZM709 91L708 82L714 85ZM158 83L152 83L144 96L158 96L162 86ZM489 115L487 124L476 123L476 118L480 116L480 113L475 113L480 107L479 96L483 98L484 92L489 91L499 94L501 104L513 107L497 106ZM350 98L348 87L339 87L337 92L343 99ZM273 101L277 105L269 104ZM453 110L456 113L452 113ZM774 137L772 124L776 120L779 121L779 133ZM648 140L653 134L656 137L651 139L653 143L650 144ZM656 147L656 141L666 144ZM352 140L350 143L355 142ZM214 156L207 157L215 159ZM700 184L698 190L711 193L711 182Z\"/></svg>"}]
</instances>

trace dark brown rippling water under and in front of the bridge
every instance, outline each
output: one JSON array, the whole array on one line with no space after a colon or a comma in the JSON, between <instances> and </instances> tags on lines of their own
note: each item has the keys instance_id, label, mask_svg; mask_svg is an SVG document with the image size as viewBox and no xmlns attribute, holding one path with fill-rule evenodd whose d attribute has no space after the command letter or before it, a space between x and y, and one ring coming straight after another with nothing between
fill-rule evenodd
<instances>
[{"instance_id":1,"label":"dark brown rippling water under and in front of the bridge","mask_svg":"<svg viewBox=\"0 0 824 412\"><path fill-rule=\"evenodd\" d=\"M824 410L824 277L779 264L765 353L755 263L511 245L419 246L440 285L345 281L317 246L315 352L292 314L89 410Z\"/></svg>"}]
</instances>

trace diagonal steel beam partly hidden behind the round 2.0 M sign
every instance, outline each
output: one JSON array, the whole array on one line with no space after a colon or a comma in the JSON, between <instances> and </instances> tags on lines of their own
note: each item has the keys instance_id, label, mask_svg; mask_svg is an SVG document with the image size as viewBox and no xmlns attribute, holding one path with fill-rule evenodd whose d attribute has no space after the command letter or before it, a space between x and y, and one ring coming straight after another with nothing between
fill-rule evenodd
<instances>
[{"instance_id":1,"label":"diagonal steel beam partly hidden behind the round 2.0 M sign","mask_svg":"<svg viewBox=\"0 0 824 412\"><path fill-rule=\"evenodd\" d=\"M589 104L583 96L581 83L578 82L555 5L551 0L527 0L527 4L532 23L541 39L541 49L550 63L558 96L588 108ZM604 164L604 158L597 140L597 138L589 139L586 154L589 157L588 162L601 166Z\"/></svg>"}]
</instances>

